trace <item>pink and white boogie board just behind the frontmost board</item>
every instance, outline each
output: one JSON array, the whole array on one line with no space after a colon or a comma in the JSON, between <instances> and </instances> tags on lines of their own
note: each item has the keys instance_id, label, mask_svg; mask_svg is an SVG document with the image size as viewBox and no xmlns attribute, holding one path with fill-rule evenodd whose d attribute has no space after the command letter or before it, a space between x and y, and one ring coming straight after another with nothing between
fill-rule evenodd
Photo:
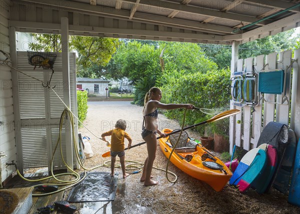
<instances>
[{"instance_id":1,"label":"pink and white boogie board just behind the frontmost board","mask_svg":"<svg viewBox=\"0 0 300 214\"><path fill-rule=\"evenodd\" d=\"M267 164L259 178L252 185L256 189L256 192L259 194L264 193L269 182L271 181L276 165L277 165L277 151L275 147L269 144L261 144L258 146L259 149L263 149L266 152Z\"/></svg>"}]
</instances>

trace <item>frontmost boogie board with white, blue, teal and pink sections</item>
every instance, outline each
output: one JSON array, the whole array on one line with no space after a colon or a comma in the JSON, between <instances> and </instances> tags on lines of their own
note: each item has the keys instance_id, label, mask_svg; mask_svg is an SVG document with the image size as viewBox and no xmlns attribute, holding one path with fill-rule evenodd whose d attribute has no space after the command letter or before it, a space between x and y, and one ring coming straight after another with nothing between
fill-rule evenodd
<instances>
[{"instance_id":1,"label":"frontmost boogie board with white, blue, teal and pink sections","mask_svg":"<svg viewBox=\"0 0 300 214\"><path fill-rule=\"evenodd\" d=\"M259 148L251 149L240 160L229 181L229 184L238 187L240 192L246 191L261 175L265 165L265 151Z\"/></svg>"}]
</instances>

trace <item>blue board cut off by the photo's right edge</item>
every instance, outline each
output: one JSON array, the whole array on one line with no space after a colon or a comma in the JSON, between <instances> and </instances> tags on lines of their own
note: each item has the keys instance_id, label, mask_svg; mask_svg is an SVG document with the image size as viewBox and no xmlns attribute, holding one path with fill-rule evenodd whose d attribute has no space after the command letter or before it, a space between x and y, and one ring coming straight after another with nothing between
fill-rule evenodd
<instances>
[{"instance_id":1,"label":"blue board cut off by the photo's right edge","mask_svg":"<svg viewBox=\"0 0 300 214\"><path fill-rule=\"evenodd\" d=\"M300 207L300 140L297 145L287 202Z\"/></svg>"}]
</instances>

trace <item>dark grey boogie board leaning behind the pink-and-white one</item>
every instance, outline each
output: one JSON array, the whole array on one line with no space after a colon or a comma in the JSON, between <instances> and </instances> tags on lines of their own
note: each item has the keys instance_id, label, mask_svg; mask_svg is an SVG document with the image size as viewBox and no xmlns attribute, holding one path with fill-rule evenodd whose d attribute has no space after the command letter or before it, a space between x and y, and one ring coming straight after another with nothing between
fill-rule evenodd
<instances>
[{"instance_id":1,"label":"dark grey boogie board leaning behind the pink-and-white one","mask_svg":"<svg viewBox=\"0 0 300 214\"><path fill-rule=\"evenodd\" d=\"M288 140L287 126L277 122L269 122L264 127L264 129L262 130L259 136L257 147L260 146L261 144L266 143L275 147L277 151L277 166L275 168L273 177L271 178L265 192L268 192L273 186L275 177L282 163L282 159L288 142L287 140Z\"/></svg>"}]
</instances>

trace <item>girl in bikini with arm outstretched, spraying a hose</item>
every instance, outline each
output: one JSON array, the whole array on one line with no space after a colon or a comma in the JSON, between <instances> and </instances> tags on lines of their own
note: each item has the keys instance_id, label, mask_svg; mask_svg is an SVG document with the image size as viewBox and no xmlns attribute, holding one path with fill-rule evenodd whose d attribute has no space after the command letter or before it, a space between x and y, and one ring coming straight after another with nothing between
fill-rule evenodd
<instances>
[{"instance_id":1,"label":"girl in bikini with arm outstretched, spraying a hose","mask_svg":"<svg viewBox=\"0 0 300 214\"><path fill-rule=\"evenodd\" d=\"M144 182L145 186L151 186L158 184L157 181L152 180L151 171L153 167L153 162L155 160L156 152L156 133L160 136L165 137L164 133L161 133L158 130L157 125L157 108L162 108L166 110L176 109L176 108L187 108L193 109L194 106L191 104L163 104L160 103L161 91L159 88L152 87L146 93L144 99L144 108L143 108L143 129L141 132L142 139L146 142L148 157L146 158L143 166L142 175L140 178L141 182Z\"/></svg>"}]
</instances>

